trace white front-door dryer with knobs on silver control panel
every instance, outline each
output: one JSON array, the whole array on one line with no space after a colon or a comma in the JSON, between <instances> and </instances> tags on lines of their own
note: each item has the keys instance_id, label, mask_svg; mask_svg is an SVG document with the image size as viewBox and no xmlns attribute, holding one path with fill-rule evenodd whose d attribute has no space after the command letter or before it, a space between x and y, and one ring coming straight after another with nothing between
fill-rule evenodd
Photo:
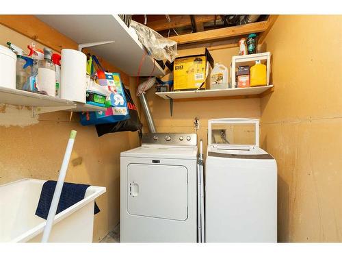
<instances>
[{"instance_id":1,"label":"white front-door dryer with knobs on silver control panel","mask_svg":"<svg viewBox=\"0 0 342 257\"><path fill-rule=\"evenodd\" d=\"M197 242L197 136L144 134L121 153L120 241Z\"/></svg>"}]
</instances>

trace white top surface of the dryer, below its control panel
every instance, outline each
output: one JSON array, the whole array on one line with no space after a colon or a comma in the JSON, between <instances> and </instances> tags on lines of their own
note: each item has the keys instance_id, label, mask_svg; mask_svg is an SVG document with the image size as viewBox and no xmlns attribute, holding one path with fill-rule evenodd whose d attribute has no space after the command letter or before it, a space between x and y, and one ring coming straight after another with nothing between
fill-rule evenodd
<instances>
[{"instance_id":1,"label":"white top surface of the dryer, below its control panel","mask_svg":"<svg viewBox=\"0 0 342 257\"><path fill-rule=\"evenodd\" d=\"M168 159L197 159L197 147L181 147L166 145L142 145L135 149L124 151L122 157L136 158L168 158Z\"/></svg>"}]
</instances>

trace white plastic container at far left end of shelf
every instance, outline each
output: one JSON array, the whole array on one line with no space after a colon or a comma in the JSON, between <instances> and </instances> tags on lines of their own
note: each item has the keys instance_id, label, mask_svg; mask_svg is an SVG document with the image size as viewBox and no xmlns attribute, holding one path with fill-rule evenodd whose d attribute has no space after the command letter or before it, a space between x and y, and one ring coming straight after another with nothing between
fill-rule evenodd
<instances>
[{"instance_id":1,"label":"white plastic container at far left end of shelf","mask_svg":"<svg viewBox=\"0 0 342 257\"><path fill-rule=\"evenodd\" d=\"M16 55L0 45L0 86L16 89Z\"/></svg>"}]
</instances>

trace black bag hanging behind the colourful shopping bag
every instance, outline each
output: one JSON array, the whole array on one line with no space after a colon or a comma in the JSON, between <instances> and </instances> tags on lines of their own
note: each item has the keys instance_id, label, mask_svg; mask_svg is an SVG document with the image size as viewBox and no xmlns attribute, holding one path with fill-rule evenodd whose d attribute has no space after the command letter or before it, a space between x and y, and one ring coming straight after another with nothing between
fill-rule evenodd
<instances>
[{"instance_id":1,"label":"black bag hanging behind the colourful shopping bag","mask_svg":"<svg viewBox=\"0 0 342 257\"><path fill-rule=\"evenodd\" d=\"M139 114L137 113L137 108L133 102L131 97L131 93L125 86L122 86L124 89L124 95L127 100L127 107L129 109L130 119L124 121L118 121L116 123L105 123L105 124L97 124L96 132L98 136L102 136L107 133L115 133L120 131L137 131L142 130L142 123L139 119Z\"/></svg>"}]
</instances>

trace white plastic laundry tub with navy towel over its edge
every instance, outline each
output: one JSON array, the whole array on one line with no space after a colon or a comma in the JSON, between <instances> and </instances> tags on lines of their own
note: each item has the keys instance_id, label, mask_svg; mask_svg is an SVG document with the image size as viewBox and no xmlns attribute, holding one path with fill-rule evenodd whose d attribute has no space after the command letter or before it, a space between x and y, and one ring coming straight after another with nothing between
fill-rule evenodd
<instances>
[{"instance_id":1,"label":"white plastic laundry tub with navy towel over its edge","mask_svg":"<svg viewBox=\"0 0 342 257\"><path fill-rule=\"evenodd\" d=\"M0 186L0 242L40 242L47 221L35 213L44 182L27 178ZM105 191L89 186L83 200L55 215L49 242L92 242L94 200Z\"/></svg>"}]
</instances>

